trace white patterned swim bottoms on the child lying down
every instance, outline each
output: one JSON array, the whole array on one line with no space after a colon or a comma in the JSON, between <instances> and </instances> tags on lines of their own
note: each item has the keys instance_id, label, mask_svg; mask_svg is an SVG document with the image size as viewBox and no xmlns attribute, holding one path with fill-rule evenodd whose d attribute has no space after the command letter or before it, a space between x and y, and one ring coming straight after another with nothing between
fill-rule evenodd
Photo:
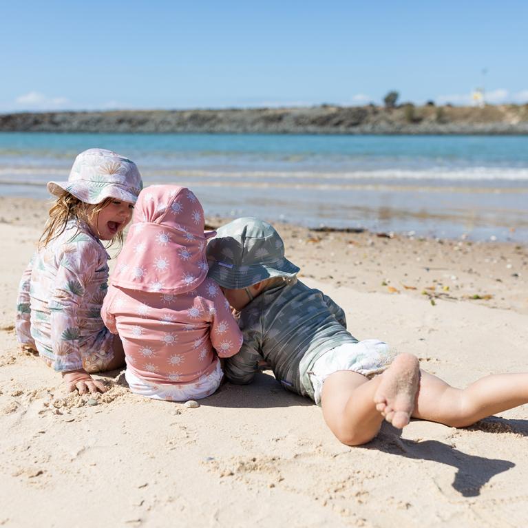
<instances>
[{"instance_id":1,"label":"white patterned swim bottoms on the child lying down","mask_svg":"<svg viewBox=\"0 0 528 528\"><path fill-rule=\"evenodd\" d=\"M395 355L396 352L388 344L377 339L346 343L328 350L313 363L309 374L315 403L321 405L323 383L330 374L339 370L352 370L370 379L386 370Z\"/></svg>"}]
</instances>

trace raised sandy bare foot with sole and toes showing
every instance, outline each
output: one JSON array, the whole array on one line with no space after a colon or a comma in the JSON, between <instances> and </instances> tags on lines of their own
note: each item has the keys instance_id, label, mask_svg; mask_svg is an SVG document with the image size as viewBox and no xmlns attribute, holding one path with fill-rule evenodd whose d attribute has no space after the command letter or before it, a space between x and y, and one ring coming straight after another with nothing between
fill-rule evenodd
<instances>
[{"instance_id":1,"label":"raised sandy bare foot with sole and toes showing","mask_svg":"<svg viewBox=\"0 0 528 528\"><path fill-rule=\"evenodd\" d=\"M412 354L397 355L381 375L374 403L386 421L398 429L409 423L419 379L419 362Z\"/></svg>"}]
</instances>

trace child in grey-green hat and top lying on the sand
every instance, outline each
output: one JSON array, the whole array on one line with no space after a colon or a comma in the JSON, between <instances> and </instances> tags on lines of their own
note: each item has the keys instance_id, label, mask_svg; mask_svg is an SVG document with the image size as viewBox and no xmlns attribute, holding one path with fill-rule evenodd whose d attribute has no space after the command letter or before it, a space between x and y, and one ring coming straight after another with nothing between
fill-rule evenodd
<instances>
[{"instance_id":1,"label":"child in grey-green hat and top lying on the sand","mask_svg":"<svg viewBox=\"0 0 528 528\"><path fill-rule=\"evenodd\" d=\"M528 374L496 374L459 390L419 368L410 354L393 355L374 339L346 331L344 311L295 275L273 226L240 218L218 229L207 246L209 277L222 287L244 335L226 359L226 378L251 383L262 361L288 390L321 405L341 442L374 438L383 419L405 427L411 417L465 427L528 403ZM380 374L380 375L377 375Z\"/></svg>"}]
</instances>

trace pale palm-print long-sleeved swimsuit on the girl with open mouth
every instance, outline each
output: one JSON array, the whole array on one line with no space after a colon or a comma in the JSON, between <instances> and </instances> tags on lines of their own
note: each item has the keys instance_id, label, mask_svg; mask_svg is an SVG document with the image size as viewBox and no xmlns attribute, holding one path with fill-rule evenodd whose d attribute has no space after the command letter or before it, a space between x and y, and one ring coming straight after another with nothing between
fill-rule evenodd
<instances>
[{"instance_id":1,"label":"pale palm-print long-sleeved swimsuit on the girl with open mouth","mask_svg":"<svg viewBox=\"0 0 528 528\"><path fill-rule=\"evenodd\" d=\"M114 339L101 319L107 260L103 244L87 224L70 220L34 255L23 275L20 297L28 298L18 308L31 318L17 318L19 341L38 350L56 370L94 372L105 365Z\"/></svg>"}]
</instances>

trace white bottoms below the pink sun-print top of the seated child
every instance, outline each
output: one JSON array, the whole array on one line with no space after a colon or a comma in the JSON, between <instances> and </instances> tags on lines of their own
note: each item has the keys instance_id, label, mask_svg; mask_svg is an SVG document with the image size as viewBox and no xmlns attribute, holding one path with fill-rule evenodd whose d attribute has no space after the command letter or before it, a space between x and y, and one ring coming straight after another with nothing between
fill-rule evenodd
<instances>
[{"instance_id":1,"label":"white bottoms below the pink sun-print top of the seated child","mask_svg":"<svg viewBox=\"0 0 528 528\"><path fill-rule=\"evenodd\" d=\"M209 376L204 376L193 383L149 383L138 378L127 368L125 379L134 394L140 394L147 398L167 401L199 400L211 396L220 387L224 373L220 366L220 361L216 362L216 367Z\"/></svg>"}]
</instances>

